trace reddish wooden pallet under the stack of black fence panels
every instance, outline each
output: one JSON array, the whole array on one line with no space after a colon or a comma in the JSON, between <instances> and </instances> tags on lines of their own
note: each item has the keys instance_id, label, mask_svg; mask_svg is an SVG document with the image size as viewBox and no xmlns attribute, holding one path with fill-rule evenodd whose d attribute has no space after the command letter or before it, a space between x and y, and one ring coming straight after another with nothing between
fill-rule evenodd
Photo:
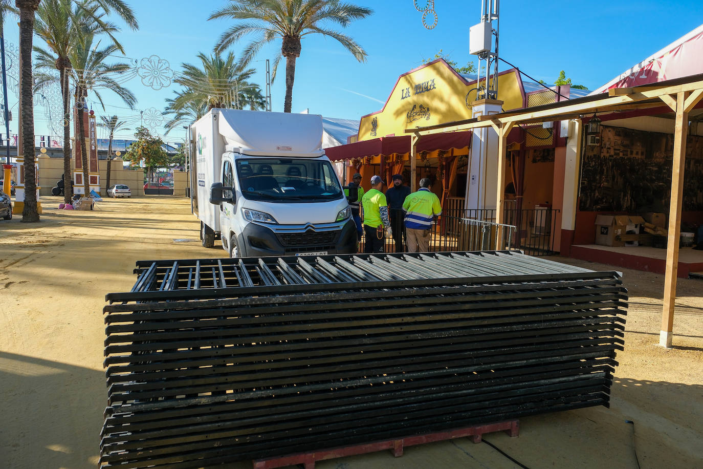
<instances>
[{"instance_id":1,"label":"reddish wooden pallet under the stack of black fence panels","mask_svg":"<svg viewBox=\"0 0 703 469\"><path fill-rule=\"evenodd\" d=\"M288 456L278 456L275 458L262 458L252 461L254 469L274 469L283 468L287 465L302 464L305 469L314 469L316 461L326 459L343 458L344 456L354 456L356 454L373 453L389 449L396 458L403 456L405 446L439 442L445 439L470 437L474 443L480 443L484 433L506 432L511 437L517 437L520 433L520 420L508 420L506 422L489 423L486 425L475 425L473 427L460 428L449 432L427 433L401 439L387 439L381 442L368 444L356 444L354 446L344 446L334 449L324 449L309 453L289 454Z\"/></svg>"}]
</instances>

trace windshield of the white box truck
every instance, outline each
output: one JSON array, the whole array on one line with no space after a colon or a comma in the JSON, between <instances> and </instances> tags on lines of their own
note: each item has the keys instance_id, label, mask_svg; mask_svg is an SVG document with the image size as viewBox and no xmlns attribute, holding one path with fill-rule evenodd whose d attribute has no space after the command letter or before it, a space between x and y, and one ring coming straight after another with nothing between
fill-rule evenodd
<instances>
[{"instance_id":1,"label":"windshield of the white box truck","mask_svg":"<svg viewBox=\"0 0 703 469\"><path fill-rule=\"evenodd\" d=\"M247 158L236 160L245 198L310 202L344 197L337 174L325 160Z\"/></svg>"}]
</instances>

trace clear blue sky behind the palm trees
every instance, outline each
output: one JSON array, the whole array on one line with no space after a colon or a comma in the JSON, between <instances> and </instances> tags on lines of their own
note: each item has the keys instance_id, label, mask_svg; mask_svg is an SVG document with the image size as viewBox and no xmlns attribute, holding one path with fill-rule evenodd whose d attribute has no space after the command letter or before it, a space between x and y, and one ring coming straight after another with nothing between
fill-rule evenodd
<instances>
[{"instance_id":1,"label":"clear blue sky behind the palm trees","mask_svg":"<svg viewBox=\"0 0 703 469\"><path fill-rule=\"evenodd\" d=\"M333 39L307 36L297 60L293 89L293 112L309 108L326 117L359 119L380 110L399 75L432 58L439 49L460 65L475 61L468 55L468 28L479 22L480 0L434 0L438 15L433 30L423 27L422 13L412 0L354 0L373 8L375 13L352 23L344 32L366 49L368 59L359 63ZM140 29L124 27L118 37L127 58L141 60L155 55L168 60L178 72L181 63L196 63L198 51L212 51L219 34L231 25L228 20L207 21L224 0L132 0ZM423 4L423 0L418 0ZM702 1L501 1L500 55L536 79L554 82L560 70L574 84L595 89L639 60L678 39L703 23ZM17 44L18 31L13 21L6 23L6 41ZM35 37L35 44L41 39ZM248 40L233 46L236 55ZM257 74L252 79L264 89L266 58L273 58L280 42L262 49ZM119 58L115 58L119 61ZM501 66L501 69L507 68ZM103 91L106 110L91 100L96 114L118 115L139 124L139 110L162 110L176 85L155 91L139 77L125 84L136 94L136 110L129 110L110 91ZM283 110L285 63L273 83L274 111ZM16 115L17 98L8 93ZM50 96L51 97L51 96ZM60 107L59 107L60 110ZM56 134L49 124L52 111L44 105L35 110L36 134ZM51 119L56 122L56 112ZM11 131L16 132L16 118ZM60 128L56 123L55 129ZM157 132L163 129L155 124ZM119 138L130 137L132 131ZM165 138L181 141L185 131L176 129ZM101 137L98 134L98 137Z\"/></svg>"}]
</instances>

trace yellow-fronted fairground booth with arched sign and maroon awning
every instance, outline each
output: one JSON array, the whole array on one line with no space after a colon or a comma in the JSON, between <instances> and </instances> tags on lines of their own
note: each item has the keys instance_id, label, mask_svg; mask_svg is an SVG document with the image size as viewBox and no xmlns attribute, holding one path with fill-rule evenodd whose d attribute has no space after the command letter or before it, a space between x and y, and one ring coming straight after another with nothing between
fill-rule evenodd
<instances>
[{"instance_id":1,"label":"yellow-fronted fairground booth with arched sign and maroon awning","mask_svg":"<svg viewBox=\"0 0 703 469\"><path fill-rule=\"evenodd\" d=\"M499 101L477 100L479 87L477 77L459 74L442 59L427 63L397 79L381 110L361 117L355 142L327 148L326 153L330 160L342 162L347 182L355 172L361 173L366 190L373 174L380 174L388 187L393 174L403 174L404 184L413 191L420 179L429 178L431 190L441 200L443 229L448 218L494 222L496 134L488 129L446 128L415 139L406 129L449 126L479 115L585 96L588 91L523 80L515 68L498 74ZM512 233L511 244L534 254L560 249L565 131L559 122L538 122L515 126L507 136L507 170L500 186L506 221L520 227Z\"/></svg>"}]
</instances>

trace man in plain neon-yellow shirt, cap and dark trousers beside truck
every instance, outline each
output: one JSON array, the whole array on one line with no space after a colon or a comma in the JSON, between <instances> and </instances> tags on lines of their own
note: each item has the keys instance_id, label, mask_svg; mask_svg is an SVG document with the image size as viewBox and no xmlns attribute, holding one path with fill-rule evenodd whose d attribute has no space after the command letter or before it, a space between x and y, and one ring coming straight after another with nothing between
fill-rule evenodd
<instances>
[{"instance_id":1,"label":"man in plain neon-yellow shirt, cap and dark trousers beside truck","mask_svg":"<svg viewBox=\"0 0 703 469\"><path fill-rule=\"evenodd\" d=\"M388 203L386 196L381 192L383 180L381 176L371 178L371 190L364 193L361 198L361 222L363 223L363 252L383 252L385 245L385 231L393 236L391 222L388 219Z\"/></svg>"}]
</instances>

